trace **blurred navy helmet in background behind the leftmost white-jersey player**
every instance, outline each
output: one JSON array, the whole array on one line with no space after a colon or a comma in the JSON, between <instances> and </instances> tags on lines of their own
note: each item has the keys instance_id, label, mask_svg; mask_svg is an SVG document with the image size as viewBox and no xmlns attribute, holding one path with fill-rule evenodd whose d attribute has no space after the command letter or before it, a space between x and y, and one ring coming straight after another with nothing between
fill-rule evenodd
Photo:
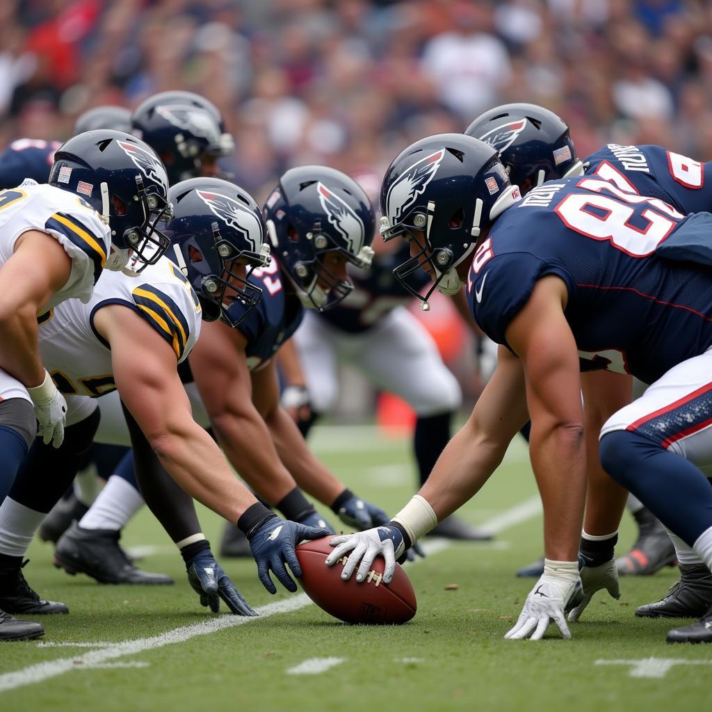
<instances>
[{"instance_id":1,"label":"blurred navy helmet in background behind the leftmost white-jersey player","mask_svg":"<svg viewBox=\"0 0 712 712\"><path fill-rule=\"evenodd\" d=\"M171 184L199 176L206 158L230 155L235 148L216 106L187 91L147 98L133 112L131 131L161 157Z\"/></svg>"}]
</instances>

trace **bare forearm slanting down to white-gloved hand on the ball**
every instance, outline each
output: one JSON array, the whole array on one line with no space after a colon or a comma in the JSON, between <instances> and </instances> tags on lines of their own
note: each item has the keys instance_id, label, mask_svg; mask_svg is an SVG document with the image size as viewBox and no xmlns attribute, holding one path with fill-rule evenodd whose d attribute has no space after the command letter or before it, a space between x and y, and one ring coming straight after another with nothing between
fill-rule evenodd
<instances>
[{"instance_id":1,"label":"bare forearm slanting down to white-gloved hand on the ball","mask_svg":"<svg viewBox=\"0 0 712 712\"><path fill-rule=\"evenodd\" d=\"M439 521L475 496L501 463L508 443L489 439L474 417L453 436L419 492Z\"/></svg>"}]
</instances>

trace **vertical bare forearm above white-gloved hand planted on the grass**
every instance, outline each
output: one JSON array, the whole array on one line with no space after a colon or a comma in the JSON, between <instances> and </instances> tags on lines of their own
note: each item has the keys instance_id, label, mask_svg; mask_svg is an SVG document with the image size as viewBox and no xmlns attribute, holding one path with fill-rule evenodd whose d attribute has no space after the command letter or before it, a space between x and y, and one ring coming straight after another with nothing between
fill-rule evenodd
<instances>
[{"instance_id":1,"label":"vertical bare forearm above white-gloved hand planted on the grass","mask_svg":"<svg viewBox=\"0 0 712 712\"><path fill-rule=\"evenodd\" d=\"M548 559L575 561L586 496L586 447L580 423L540 431L532 424L532 466L544 508Z\"/></svg>"}]
</instances>

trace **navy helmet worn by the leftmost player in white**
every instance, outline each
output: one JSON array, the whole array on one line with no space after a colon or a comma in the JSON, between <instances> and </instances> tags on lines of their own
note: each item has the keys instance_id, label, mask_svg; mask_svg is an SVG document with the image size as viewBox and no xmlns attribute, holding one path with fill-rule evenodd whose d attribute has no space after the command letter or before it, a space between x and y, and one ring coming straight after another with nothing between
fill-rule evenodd
<instances>
[{"instance_id":1,"label":"navy helmet worn by the leftmost player in white","mask_svg":"<svg viewBox=\"0 0 712 712\"><path fill-rule=\"evenodd\" d=\"M107 267L134 257L140 272L155 264L169 241L156 227L170 212L168 178L150 146L122 131L99 129L70 138L54 155L48 183L78 194L111 229Z\"/></svg>"}]
</instances>

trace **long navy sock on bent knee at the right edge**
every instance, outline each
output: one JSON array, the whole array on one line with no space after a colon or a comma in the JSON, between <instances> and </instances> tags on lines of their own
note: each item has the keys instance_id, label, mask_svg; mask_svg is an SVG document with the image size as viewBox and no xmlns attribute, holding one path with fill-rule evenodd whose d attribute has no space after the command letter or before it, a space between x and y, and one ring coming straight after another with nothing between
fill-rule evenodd
<instances>
[{"instance_id":1,"label":"long navy sock on bent knee at the right edge","mask_svg":"<svg viewBox=\"0 0 712 712\"><path fill-rule=\"evenodd\" d=\"M627 430L604 435L600 456L604 470L689 546L712 526L712 488L684 457Z\"/></svg>"}]
</instances>

